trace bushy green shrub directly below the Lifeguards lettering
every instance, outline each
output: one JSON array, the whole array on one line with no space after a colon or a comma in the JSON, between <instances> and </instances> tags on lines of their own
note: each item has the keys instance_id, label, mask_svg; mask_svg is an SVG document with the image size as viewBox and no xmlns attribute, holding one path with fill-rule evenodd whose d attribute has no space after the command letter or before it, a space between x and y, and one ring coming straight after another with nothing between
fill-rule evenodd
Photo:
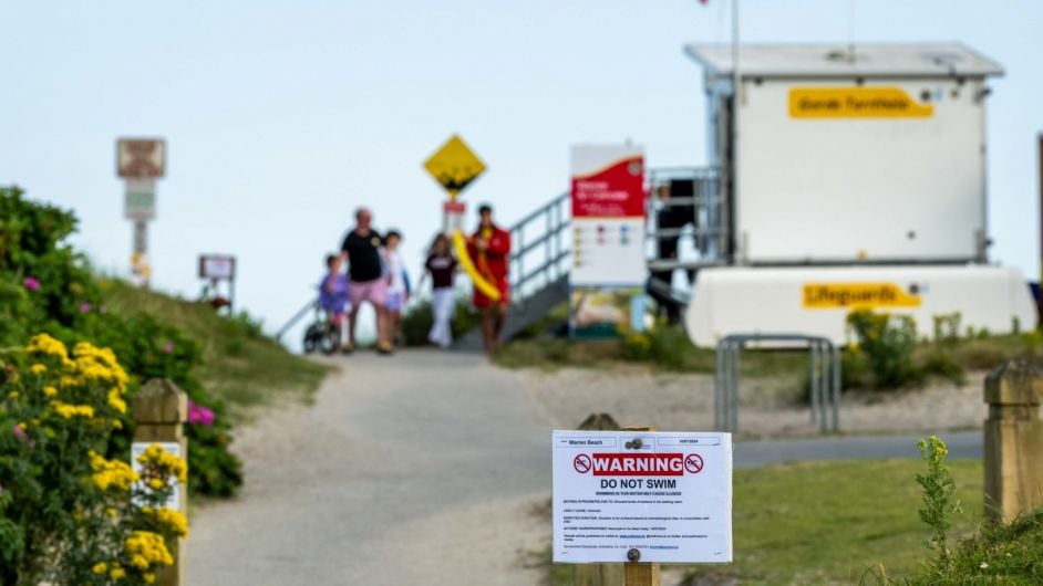
<instances>
[{"instance_id":1,"label":"bushy green shrub directly below the Lifeguards lettering","mask_svg":"<svg viewBox=\"0 0 1043 586\"><path fill-rule=\"evenodd\" d=\"M847 324L858 341L857 352L866 356L870 388L898 388L923 380L923 370L912 359L917 343L912 317L856 310L848 314Z\"/></svg>"}]
</instances>

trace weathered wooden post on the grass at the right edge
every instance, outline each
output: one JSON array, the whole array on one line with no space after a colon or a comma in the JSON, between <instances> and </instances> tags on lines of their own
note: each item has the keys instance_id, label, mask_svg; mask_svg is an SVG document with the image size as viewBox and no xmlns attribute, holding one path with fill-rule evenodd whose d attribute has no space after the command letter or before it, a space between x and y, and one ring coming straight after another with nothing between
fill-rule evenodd
<instances>
[{"instance_id":1,"label":"weathered wooden post on the grass at the right edge","mask_svg":"<svg viewBox=\"0 0 1043 586\"><path fill-rule=\"evenodd\" d=\"M1043 360L1011 360L985 378L985 516L1011 521L1043 505Z\"/></svg>"}]
</instances>

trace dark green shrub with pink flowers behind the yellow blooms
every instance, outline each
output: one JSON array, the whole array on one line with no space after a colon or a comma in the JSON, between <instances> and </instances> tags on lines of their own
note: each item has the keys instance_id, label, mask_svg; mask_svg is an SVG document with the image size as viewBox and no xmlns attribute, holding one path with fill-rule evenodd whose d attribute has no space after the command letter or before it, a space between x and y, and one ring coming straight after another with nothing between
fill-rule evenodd
<instances>
[{"instance_id":1,"label":"dark green shrub with pink flowers behind the yellow blooms","mask_svg":"<svg viewBox=\"0 0 1043 586\"><path fill-rule=\"evenodd\" d=\"M0 188L0 346L17 346L30 334L47 332L70 347L91 341L112 348L131 377L131 393L149 378L173 380L216 415L211 426L186 426L189 490L234 494L242 481L240 464L228 452L230 423L224 406L196 376L198 344L156 317L110 311L85 258L68 244L75 216L23 196L17 187ZM245 315L226 323L231 331L261 335ZM111 436L105 452L117 453L128 443L125 428Z\"/></svg>"}]
</instances>

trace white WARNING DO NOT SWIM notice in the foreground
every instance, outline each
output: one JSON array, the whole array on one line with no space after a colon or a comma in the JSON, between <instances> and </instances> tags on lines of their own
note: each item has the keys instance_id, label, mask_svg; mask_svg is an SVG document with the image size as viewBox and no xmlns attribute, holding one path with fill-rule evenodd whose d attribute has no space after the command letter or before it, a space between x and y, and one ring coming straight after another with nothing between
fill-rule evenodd
<instances>
[{"instance_id":1,"label":"white WARNING DO NOT SWIM notice in the foreground","mask_svg":"<svg viewBox=\"0 0 1043 586\"><path fill-rule=\"evenodd\" d=\"M732 436L555 431L554 561L732 561Z\"/></svg>"}]
</instances>

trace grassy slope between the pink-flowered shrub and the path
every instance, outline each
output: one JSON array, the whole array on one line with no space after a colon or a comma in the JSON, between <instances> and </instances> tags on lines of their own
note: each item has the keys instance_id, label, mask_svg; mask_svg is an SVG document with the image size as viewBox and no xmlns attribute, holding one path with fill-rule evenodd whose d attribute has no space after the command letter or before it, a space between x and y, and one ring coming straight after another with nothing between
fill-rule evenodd
<instances>
[{"instance_id":1,"label":"grassy slope between the pink-flowered shrub and the path","mask_svg":"<svg viewBox=\"0 0 1043 586\"><path fill-rule=\"evenodd\" d=\"M104 281L105 302L127 315L147 313L188 333L203 349L200 379L242 420L276 400L308 401L327 368L296 356L261 334L245 315L218 315L209 305Z\"/></svg>"}]
</instances>

